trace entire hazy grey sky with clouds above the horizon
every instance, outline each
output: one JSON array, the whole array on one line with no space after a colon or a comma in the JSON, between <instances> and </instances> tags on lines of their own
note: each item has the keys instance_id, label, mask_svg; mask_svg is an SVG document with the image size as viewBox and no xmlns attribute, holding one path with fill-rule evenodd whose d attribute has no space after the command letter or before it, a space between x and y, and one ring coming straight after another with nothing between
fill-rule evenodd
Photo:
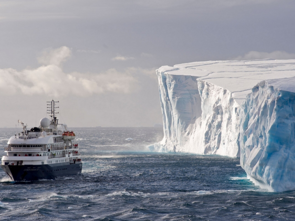
<instances>
[{"instance_id":1,"label":"entire hazy grey sky with clouds above the horizon","mask_svg":"<svg viewBox=\"0 0 295 221\"><path fill-rule=\"evenodd\" d=\"M0 127L162 124L155 70L295 58L293 0L0 1ZM47 115L48 116L48 115Z\"/></svg>"}]
</instances>

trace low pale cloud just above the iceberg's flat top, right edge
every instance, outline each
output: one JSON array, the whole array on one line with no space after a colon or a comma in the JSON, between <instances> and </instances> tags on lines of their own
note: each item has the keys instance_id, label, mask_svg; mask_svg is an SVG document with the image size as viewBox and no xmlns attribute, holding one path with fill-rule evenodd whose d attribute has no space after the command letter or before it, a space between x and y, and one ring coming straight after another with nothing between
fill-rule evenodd
<instances>
[{"instance_id":1,"label":"low pale cloud just above the iceberg's flat top, right edge","mask_svg":"<svg viewBox=\"0 0 295 221\"><path fill-rule=\"evenodd\" d=\"M250 51L243 56L235 57L231 60L259 60L259 59L295 59L295 54L288 53L285 51L273 51L273 52L258 52L258 51Z\"/></svg>"}]
</instances>

